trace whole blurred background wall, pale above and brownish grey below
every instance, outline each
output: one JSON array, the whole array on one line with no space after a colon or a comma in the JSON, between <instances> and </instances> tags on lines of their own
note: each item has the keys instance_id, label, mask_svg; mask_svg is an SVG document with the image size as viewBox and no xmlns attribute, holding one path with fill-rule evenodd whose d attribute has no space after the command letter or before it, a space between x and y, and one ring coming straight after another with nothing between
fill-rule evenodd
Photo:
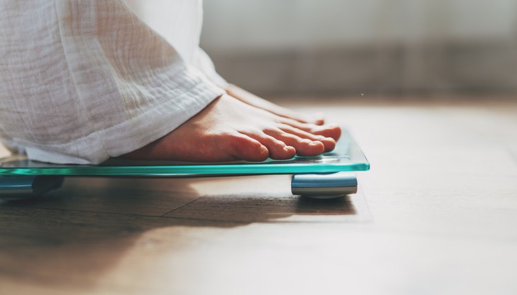
<instances>
[{"instance_id":1,"label":"whole blurred background wall, pale above and brownish grey below","mask_svg":"<svg viewBox=\"0 0 517 295\"><path fill-rule=\"evenodd\" d=\"M515 92L513 0L205 0L201 45L259 93Z\"/></svg>"}]
</instances>

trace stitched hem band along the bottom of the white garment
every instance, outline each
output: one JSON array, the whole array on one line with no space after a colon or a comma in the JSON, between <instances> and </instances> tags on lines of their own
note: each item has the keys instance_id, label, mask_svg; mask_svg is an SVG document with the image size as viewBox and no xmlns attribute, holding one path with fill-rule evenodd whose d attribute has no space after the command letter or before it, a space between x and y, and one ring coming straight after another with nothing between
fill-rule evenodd
<instances>
[{"instance_id":1,"label":"stitched hem band along the bottom of the white garment","mask_svg":"<svg viewBox=\"0 0 517 295\"><path fill-rule=\"evenodd\" d=\"M138 150L169 134L192 116L203 110L224 90L201 79L181 96L154 105L138 116L104 130L98 130L68 143L34 146L21 142L29 159L50 163L99 164L110 157ZM178 105L181 101L181 105ZM52 150L77 150L76 155L61 154ZM83 152L79 152L83 151ZM84 152L88 151L88 152Z\"/></svg>"}]
</instances>

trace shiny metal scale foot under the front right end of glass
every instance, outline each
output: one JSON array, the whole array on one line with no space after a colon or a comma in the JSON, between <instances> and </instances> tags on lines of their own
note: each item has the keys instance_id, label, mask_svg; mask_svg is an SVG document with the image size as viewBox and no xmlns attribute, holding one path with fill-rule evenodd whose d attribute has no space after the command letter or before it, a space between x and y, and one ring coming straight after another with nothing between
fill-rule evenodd
<instances>
[{"instance_id":1,"label":"shiny metal scale foot under the front right end of glass","mask_svg":"<svg viewBox=\"0 0 517 295\"><path fill-rule=\"evenodd\" d=\"M328 174L294 174L292 194L314 199L332 199L357 192L357 178L351 172Z\"/></svg>"}]
</instances>

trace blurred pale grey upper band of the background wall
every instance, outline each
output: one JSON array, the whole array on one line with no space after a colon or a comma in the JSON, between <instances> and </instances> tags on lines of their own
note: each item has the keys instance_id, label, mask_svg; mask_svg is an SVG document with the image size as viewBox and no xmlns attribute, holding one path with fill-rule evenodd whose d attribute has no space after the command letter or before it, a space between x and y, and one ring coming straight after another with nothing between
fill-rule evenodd
<instances>
[{"instance_id":1,"label":"blurred pale grey upper band of the background wall","mask_svg":"<svg viewBox=\"0 0 517 295\"><path fill-rule=\"evenodd\" d=\"M514 0L205 0L210 50L508 38Z\"/></svg>"}]
</instances>

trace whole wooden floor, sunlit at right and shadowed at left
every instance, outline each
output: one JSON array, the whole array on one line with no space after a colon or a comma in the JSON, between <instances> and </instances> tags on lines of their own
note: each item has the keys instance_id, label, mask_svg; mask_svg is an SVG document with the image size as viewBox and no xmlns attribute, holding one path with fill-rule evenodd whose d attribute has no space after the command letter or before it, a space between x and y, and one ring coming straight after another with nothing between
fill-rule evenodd
<instances>
[{"instance_id":1,"label":"whole wooden floor, sunlit at right and shadowed at left","mask_svg":"<svg viewBox=\"0 0 517 295\"><path fill-rule=\"evenodd\" d=\"M517 294L513 101L291 103L371 161L345 199L290 176L79 178L0 203L0 294Z\"/></svg>"}]
</instances>

